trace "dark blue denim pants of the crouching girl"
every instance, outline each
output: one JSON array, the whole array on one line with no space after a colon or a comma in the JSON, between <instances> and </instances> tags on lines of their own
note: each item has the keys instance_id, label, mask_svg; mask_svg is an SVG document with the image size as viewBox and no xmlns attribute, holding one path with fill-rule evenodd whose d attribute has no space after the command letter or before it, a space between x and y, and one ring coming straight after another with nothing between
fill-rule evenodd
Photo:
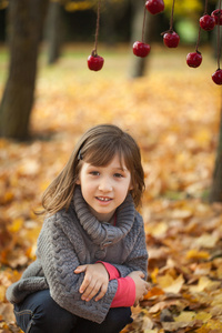
<instances>
[{"instance_id":1,"label":"dark blue denim pants of the crouching girl","mask_svg":"<svg viewBox=\"0 0 222 333\"><path fill-rule=\"evenodd\" d=\"M84 320L59 306L49 290L14 305L14 314L26 333L118 333L132 322L130 307L110 309L101 324Z\"/></svg>"}]
</instances>

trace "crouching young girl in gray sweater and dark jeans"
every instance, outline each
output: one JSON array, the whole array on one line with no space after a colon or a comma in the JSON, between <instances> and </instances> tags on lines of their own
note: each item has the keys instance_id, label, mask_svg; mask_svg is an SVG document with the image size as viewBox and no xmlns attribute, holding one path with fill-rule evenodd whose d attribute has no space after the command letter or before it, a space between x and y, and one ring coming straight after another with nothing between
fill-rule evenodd
<instances>
[{"instance_id":1,"label":"crouching young girl in gray sweater and dark jeans","mask_svg":"<svg viewBox=\"0 0 222 333\"><path fill-rule=\"evenodd\" d=\"M90 129L43 195L37 260L7 291L30 333L115 333L148 292L138 144L115 125Z\"/></svg>"}]
</instances>

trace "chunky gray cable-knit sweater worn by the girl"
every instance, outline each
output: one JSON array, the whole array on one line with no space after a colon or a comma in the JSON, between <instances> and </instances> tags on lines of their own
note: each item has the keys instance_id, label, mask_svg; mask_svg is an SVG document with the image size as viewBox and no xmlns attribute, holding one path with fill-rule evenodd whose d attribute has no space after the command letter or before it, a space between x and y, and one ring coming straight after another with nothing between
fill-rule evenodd
<instances>
[{"instance_id":1,"label":"chunky gray cable-knit sweater worn by the girl","mask_svg":"<svg viewBox=\"0 0 222 333\"><path fill-rule=\"evenodd\" d=\"M117 225L99 222L89 211L77 186L69 211L46 219L38 239L37 260L22 278L9 286L7 299L21 302L30 293L49 289L52 299L71 313L101 323L110 309L118 281L109 282L98 302L81 300L79 287L84 273L74 274L78 265L98 260L114 265L121 276L141 270L147 276L148 253L141 215L131 195L117 210Z\"/></svg>"}]
</instances>

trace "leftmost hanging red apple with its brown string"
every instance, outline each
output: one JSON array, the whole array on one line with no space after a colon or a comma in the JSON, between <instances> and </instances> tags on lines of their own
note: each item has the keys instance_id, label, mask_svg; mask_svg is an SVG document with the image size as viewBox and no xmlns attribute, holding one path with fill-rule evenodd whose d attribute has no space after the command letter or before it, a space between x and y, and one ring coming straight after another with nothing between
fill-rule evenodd
<instances>
[{"instance_id":1,"label":"leftmost hanging red apple with its brown string","mask_svg":"<svg viewBox=\"0 0 222 333\"><path fill-rule=\"evenodd\" d=\"M99 71L99 70L101 70L102 67L103 67L103 63L104 63L104 59L102 57L98 56L98 52L97 52L99 28L100 28L100 4L101 4L101 0L98 1L94 49L92 50L92 53L88 57L88 68L91 71Z\"/></svg>"}]
</instances>

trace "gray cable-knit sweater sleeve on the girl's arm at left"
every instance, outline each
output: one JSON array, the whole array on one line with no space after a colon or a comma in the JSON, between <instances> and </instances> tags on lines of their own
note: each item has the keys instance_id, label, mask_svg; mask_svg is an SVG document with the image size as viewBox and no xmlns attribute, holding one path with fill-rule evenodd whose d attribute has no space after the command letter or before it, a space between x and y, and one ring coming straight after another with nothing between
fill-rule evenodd
<instances>
[{"instance_id":1,"label":"gray cable-knit sweater sleeve on the girl's arm at left","mask_svg":"<svg viewBox=\"0 0 222 333\"><path fill-rule=\"evenodd\" d=\"M109 282L105 295L95 302L81 300L79 292L84 273L74 274L80 262L63 232L63 224L70 221L62 220L57 223L56 215L44 223L38 240L38 256L41 260L42 269L52 299L69 312L90 321L101 323L109 312L112 300L117 293L118 281ZM74 226L73 226L74 228Z\"/></svg>"}]
</instances>

